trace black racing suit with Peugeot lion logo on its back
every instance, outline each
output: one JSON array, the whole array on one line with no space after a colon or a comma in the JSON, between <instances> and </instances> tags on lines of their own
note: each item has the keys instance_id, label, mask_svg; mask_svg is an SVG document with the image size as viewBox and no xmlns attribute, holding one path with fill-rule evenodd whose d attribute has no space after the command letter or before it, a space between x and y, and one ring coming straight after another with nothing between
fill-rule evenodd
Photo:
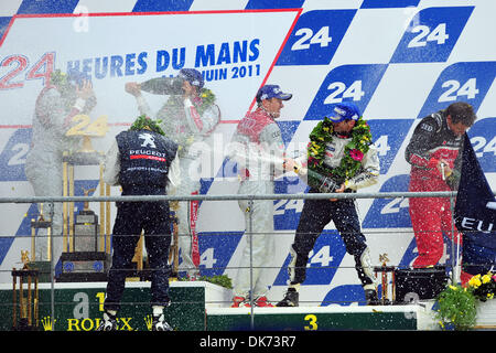
<instances>
[{"instance_id":1,"label":"black racing suit with Peugeot lion logo on its back","mask_svg":"<svg viewBox=\"0 0 496 353\"><path fill-rule=\"evenodd\" d=\"M118 183L122 186L122 195L165 194L168 175L176 157L177 145L149 130L123 131L116 137L116 141ZM107 310L118 311L120 308L127 270L130 269L142 229L152 269L151 303L152 306L169 303L168 257L171 244L169 202L118 202L112 232L112 266L108 275L104 304Z\"/></svg>"}]
</instances>

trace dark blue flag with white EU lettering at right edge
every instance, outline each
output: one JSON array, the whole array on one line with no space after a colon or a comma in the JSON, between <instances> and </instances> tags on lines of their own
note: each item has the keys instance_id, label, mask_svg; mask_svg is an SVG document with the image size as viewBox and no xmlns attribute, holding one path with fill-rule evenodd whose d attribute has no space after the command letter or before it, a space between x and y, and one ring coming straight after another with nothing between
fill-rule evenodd
<instances>
[{"instance_id":1,"label":"dark blue flag with white EU lettering at right edge","mask_svg":"<svg viewBox=\"0 0 496 353\"><path fill-rule=\"evenodd\" d=\"M455 222L457 229L463 233L464 270L471 275L494 270L496 200L466 133Z\"/></svg>"}]
</instances>

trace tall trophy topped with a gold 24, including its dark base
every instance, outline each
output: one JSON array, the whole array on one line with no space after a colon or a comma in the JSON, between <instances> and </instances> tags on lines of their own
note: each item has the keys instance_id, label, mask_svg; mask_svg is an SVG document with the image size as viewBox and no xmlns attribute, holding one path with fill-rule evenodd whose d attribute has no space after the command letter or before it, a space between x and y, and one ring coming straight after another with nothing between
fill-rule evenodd
<instances>
[{"instance_id":1,"label":"tall trophy topped with a gold 24, including its dark base","mask_svg":"<svg viewBox=\"0 0 496 353\"><path fill-rule=\"evenodd\" d=\"M71 128L66 136L82 136L83 146L77 151L65 151L63 156L63 195L74 196L74 181L76 165L99 167L100 196L110 194L109 185L104 182L104 153L96 151L90 138L104 137L108 131L107 117L101 116L90 121L86 115L77 115L73 118L77 122ZM88 196L95 189L84 190ZM89 210L88 202L84 203L83 210L75 215L74 202L63 205L63 247L62 274L57 281L106 281L110 263L110 204L100 202L99 217ZM98 223L99 220L99 223ZM108 235L105 239L105 234ZM100 240L100 242L98 242ZM105 247L107 243L107 247Z\"/></svg>"}]
</instances>

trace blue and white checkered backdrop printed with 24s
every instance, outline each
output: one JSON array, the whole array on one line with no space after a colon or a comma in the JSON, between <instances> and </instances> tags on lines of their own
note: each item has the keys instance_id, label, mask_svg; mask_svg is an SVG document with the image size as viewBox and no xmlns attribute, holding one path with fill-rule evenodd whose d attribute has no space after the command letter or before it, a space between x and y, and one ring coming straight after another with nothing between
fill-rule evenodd
<instances>
[{"instance_id":1,"label":"blue and white checkered backdrop printed with 24s","mask_svg":"<svg viewBox=\"0 0 496 353\"><path fill-rule=\"evenodd\" d=\"M465 100L474 106L478 116L468 135L489 184L495 185L494 1L4 0L0 4L0 36L15 14L290 8L303 11L267 81L293 94L285 103L280 121L284 143L305 141L316 124L314 120L327 115L334 104L353 101L369 120L381 163L379 185L367 191L407 191L409 165L403 151L416 122L450 103ZM17 146L29 139L29 129L13 130L0 146L1 190L28 189L15 194L30 194L22 162L9 162L19 153ZM203 180L202 192L236 192L224 188L222 176L225 174L220 171L218 178ZM305 185L295 178L284 178L278 181L277 190L304 192ZM358 206L373 260L378 263L378 255L387 253L391 264L409 265L416 256L416 244L410 232L408 200L360 200ZM285 249L291 244L301 207L301 201L274 203L277 234L281 235L281 250L274 254L277 266L288 263ZM34 207L22 212L30 211ZM218 233L216 228L224 222L224 211L233 214L234 221L229 224L237 225ZM222 269L209 270L212 266L236 266L237 249L244 243L244 226L235 203L226 206L204 203L200 216L200 231L216 235L201 237L204 272L223 272ZM4 222L6 218L2 224ZM20 223L13 233L22 234L22 229L28 234L25 218ZM12 242L7 243L0 239L3 269L9 269L9 260L19 254ZM302 297L316 301L356 300L355 296L360 293L356 290L358 281L353 266L353 259L345 254L339 236L330 225L309 261L310 268L321 270L309 271ZM226 274L234 277L233 271ZM278 299L284 289L285 270L277 269L271 274L274 282L270 296Z\"/></svg>"}]
</instances>

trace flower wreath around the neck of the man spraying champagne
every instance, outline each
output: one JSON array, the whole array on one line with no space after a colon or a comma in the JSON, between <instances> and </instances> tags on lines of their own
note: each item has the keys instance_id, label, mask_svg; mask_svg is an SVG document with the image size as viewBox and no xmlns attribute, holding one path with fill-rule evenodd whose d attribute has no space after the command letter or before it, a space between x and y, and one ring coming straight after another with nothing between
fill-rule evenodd
<instances>
[{"instance_id":1,"label":"flower wreath around the neck of the man spraying champagne","mask_svg":"<svg viewBox=\"0 0 496 353\"><path fill-rule=\"evenodd\" d=\"M362 160L371 143L370 127L359 117L352 129L352 140L344 148L344 157L336 168L324 164L325 147L333 140L333 125L325 117L310 133L308 147L309 168L324 176L332 176L336 182L344 182L356 174L362 165Z\"/></svg>"}]
</instances>

